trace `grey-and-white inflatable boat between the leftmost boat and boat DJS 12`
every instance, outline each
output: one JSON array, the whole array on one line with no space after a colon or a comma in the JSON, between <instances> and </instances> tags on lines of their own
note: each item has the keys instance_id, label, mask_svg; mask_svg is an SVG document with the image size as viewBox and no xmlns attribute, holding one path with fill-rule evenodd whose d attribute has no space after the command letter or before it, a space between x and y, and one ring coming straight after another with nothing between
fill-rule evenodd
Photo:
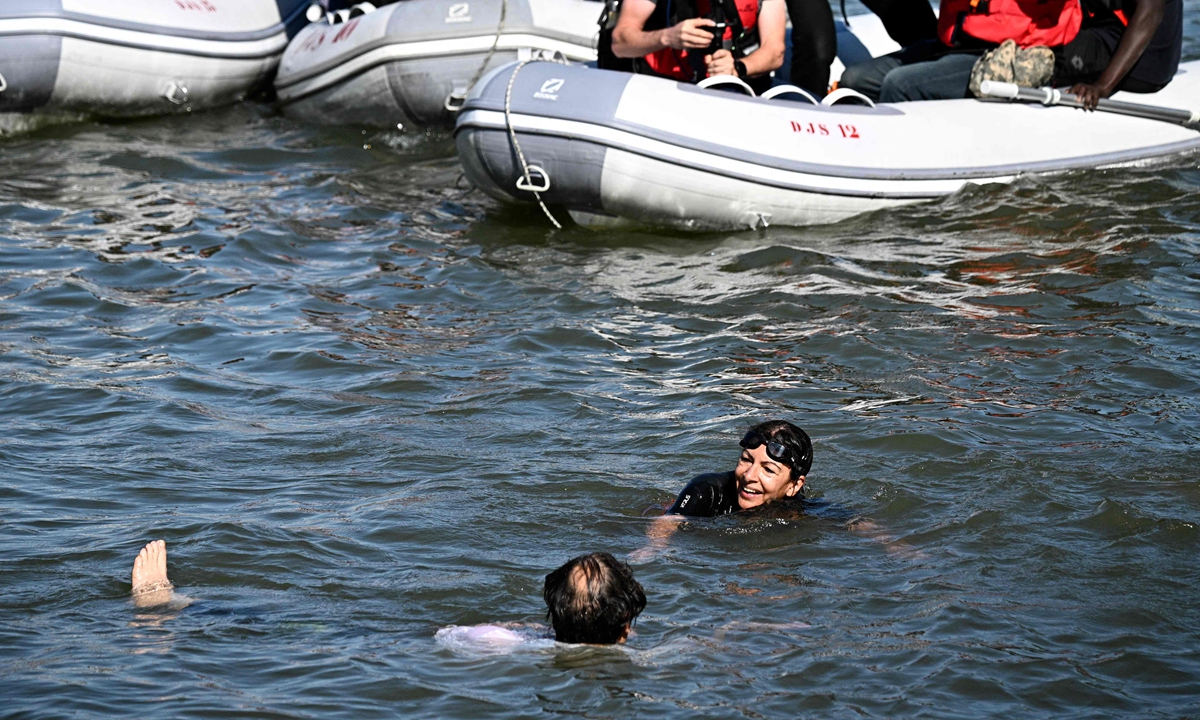
<instances>
[{"instance_id":1,"label":"grey-and-white inflatable boat between the leftmost boat and boat DJS 12","mask_svg":"<svg viewBox=\"0 0 1200 720\"><path fill-rule=\"evenodd\" d=\"M493 67L529 58L595 60L602 7L595 0L360 4L292 41L275 92L288 115L310 122L451 127L467 91Z\"/></svg>"}]
</instances>

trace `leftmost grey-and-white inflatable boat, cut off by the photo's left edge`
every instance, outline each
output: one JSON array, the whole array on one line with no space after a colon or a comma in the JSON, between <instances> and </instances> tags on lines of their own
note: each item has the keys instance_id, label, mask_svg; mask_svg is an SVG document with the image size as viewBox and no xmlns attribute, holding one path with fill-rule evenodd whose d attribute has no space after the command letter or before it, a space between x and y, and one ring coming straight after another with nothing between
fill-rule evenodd
<instances>
[{"instance_id":1,"label":"leftmost grey-and-white inflatable boat, cut off by the photo's left edge","mask_svg":"<svg viewBox=\"0 0 1200 720\"><path fill-rule=\"evenodd\" d=\"M0 2L0 130L235 102L275 71L307 0Z\"/></svg>"}]
</instances>

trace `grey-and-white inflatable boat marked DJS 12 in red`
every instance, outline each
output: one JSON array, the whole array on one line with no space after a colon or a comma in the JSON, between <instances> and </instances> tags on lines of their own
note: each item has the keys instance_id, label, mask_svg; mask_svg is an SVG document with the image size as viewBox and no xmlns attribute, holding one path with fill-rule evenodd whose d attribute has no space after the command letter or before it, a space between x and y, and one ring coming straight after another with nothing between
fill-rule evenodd
<instances>
[{"instance_id":1,"label":"grey-and-white inflatable boat marked DJS 12 in red","mask_svg":"<svg viewBox=\"0 0 1200 720\"><path fill-rule=\"evenodd\" d=\"M584 226L688 229L836 222L967 184L1200 149L1200 132L1157 120L992 100L844 104L858 102L848 92L814 104L786 89L749 97L514 64L480 80L455 134L467 178L493 198ZM1200 61L1154 95L1114 100L1195 109Z\"/></svg>"}]
</instances>

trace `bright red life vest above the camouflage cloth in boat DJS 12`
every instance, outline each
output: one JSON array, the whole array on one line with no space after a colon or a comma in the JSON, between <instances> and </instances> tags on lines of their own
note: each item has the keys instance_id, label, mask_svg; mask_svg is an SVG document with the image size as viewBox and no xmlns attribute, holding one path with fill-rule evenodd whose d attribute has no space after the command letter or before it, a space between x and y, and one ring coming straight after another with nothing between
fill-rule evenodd
<instances>
[{"instance_id":1,"label":"bright red life vest above the camouflage cloth in boat DJS 12","mask_svg":"<svg viewBox=\"0 0 1200 720\"><path fill-rule=\"evenodd\" d=\"M1012 38L1022 48L1054 48L1075 40L1084 8L1079 0L942 0L937 16L937 37L948 46L966 35L994 43Z\"/></svg>"}]
</instances>

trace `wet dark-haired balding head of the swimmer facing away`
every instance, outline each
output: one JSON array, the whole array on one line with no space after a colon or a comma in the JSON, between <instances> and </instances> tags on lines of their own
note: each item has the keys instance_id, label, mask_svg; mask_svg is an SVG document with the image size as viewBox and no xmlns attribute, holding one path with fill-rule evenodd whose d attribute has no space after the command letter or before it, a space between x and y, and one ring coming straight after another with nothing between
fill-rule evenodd
<instances>
[{"instance_id":1,"label":"wet dark-haired balding head of the swimmer facing away","mask_svg":"<svg viewBox=\"0 0 1200 720\"><path fill-rule=\"evenodd\" d=\"M572 582L576 571L582 576ZM620 642L646 610L646 590L634 571L606 552L572 558L547 575L542 598L558 642Z\"/></svg>"}]
</instances>

